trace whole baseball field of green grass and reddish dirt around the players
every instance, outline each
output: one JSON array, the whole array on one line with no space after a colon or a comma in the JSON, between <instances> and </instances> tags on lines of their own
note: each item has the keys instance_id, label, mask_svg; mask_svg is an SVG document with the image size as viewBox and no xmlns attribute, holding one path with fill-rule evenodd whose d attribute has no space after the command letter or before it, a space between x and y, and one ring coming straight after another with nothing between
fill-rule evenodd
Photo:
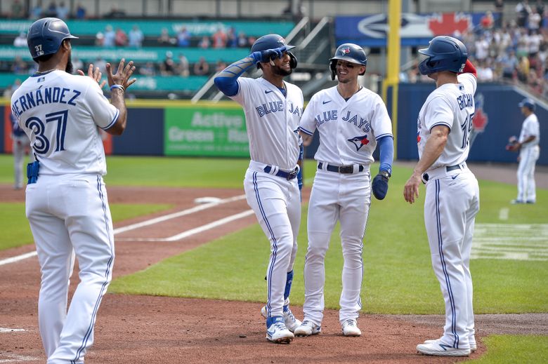
<instances>
[{"instance_id":1,"label":"whole baseball field of green grass and reddish dirt around the players","mask_svg":"<svg viewBox=\"0 0 548 364\"><path fill-rule=\"evenodd\" d=\"M0 156L0 363L44 362L37 329L39 264L24 191L12 189L12 163L11 156ZM260 315L269 245L243 197L247 163L108 157L115 278L86 363L548 362L548 189L537 189L534 205L511 205L515 184L497 182L494 175L480 180L471 261L478 351L469 358L415 351L424 339L441 335L444 318L424 229L424 187L418 203L405 203L403 184L411 173L406 163L394 166L386 199L372 201L358 321L363 335L343 337L339 328L337 229L326 258L322 334L276 345L264 338ZM314 170L314 161L306 161L291 294L298 318Z\"/></svg>"}]
</instances>

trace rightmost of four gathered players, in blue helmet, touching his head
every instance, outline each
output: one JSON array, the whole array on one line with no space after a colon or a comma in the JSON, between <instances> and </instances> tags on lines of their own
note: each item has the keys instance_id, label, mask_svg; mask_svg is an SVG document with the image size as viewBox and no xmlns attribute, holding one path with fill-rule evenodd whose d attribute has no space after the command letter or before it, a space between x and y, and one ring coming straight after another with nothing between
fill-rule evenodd
<instances>
[{"instance_id":1,"label":"rightmost of four gathered players, in blue helmet, touching his head","mask_svg":"<svg viewBox=\"0 0 548 364\"><path fill-rule=\"evenodd\" d=\"M439 339L417 351L434 356L469 356L476 350L470 252L479 210L478 181L467 167L474 117L476 69L458 39L436 36L419 50L421 74L436 81L417 121L419 162L405 184L405 201L414 203L426 183L424 224L433 271L445 300L445 327Z\"/></svg>"}]
</instances>

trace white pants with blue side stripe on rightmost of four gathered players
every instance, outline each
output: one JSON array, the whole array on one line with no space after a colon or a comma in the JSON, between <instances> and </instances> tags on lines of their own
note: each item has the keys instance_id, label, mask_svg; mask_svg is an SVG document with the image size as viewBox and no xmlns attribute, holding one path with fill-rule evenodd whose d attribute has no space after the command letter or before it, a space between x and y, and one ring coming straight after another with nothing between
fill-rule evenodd
<instances>
[{"instance_id":1,"label":"white pants with blue side stripe on rightmost of four gathered players","mask_svg":"<svg viewBox=\"0 0 548 364\"><path fill-rule=\"evenodd\" d=\"M424 223L434 274L445 301L443 343L459 349L474 337L470 254L474 220L479 211L479 187L473 173L429 171L424 201Z\"/></svg>"}]
</instances>

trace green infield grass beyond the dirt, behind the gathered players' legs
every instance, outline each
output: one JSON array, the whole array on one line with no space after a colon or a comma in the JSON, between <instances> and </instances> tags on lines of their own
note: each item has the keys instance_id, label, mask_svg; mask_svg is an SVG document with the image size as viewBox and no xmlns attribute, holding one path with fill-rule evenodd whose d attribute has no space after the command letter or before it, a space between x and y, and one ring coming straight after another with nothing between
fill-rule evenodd
<instances>
[{"instance_id":1,"label":"green infield grass beyond the dirt, behind the gathered players' legs","mask_svg":"<svg viewBox=\"0 0 548 364\"><path fill-rule=\"evenodd\" d=\"M410 168L394 168L389 195L374 200L364 243L363 311L377 314L442 314L443 299L433 275L423 221L424 187L418 203L403 201ZM509 205L515 186L481 182L482 208L477 222L500 222L500 208L510 209L512 222L543 223L548 191L538 191L536 205ZM515 216L514 216L515 215ZM515 219L514 219L515 217ZM302 271L306 252L306 206L299 234L292 302L302 304ZM263 302L268 241L258 225L171 257L138 274L119 278L111 292ZM342 255L339 230L326 257L325 305L337 308L341 292ZM237 267L237 269L234 269ZM546 312L546 262L474 259L475 311L481 313ZM181 280L185 276L189 279ZM237 288L237 290L235 290ZM411 298L412 297L412 298ZM504 298L502 298L504 297Z\"/></svg>"}]
</instances>

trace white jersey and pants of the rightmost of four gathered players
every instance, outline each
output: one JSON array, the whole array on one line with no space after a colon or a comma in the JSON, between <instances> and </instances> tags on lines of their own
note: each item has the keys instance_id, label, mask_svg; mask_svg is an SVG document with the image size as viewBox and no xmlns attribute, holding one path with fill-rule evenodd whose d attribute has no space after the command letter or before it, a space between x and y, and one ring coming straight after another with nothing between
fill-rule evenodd
<instances>
[{"instance_id":1,"label":"white jersey and pants of the rightmost of four gathered players","mask_svg":"<svg viewBox=\"0 0 548 364\"><path fill-rule=\"evenodd\" d=\"M424 224L433 271L445 302L440 346L469 349L476 343L470 255L480 202L478 181L464 162L469 153L476 78L466 73L457 79L459 83L446 83L433 90L424 102L417 145L422 156L431 128L450 128L441 156L426 172Z\"/></svg>"}]
</instances>

